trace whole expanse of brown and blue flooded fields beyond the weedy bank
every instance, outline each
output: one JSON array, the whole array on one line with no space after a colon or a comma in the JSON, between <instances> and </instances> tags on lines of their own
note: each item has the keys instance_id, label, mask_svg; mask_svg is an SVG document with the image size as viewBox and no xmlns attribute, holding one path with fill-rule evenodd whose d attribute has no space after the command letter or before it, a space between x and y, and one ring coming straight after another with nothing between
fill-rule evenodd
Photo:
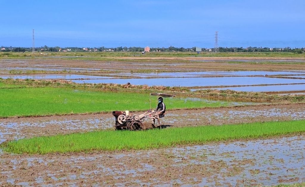
<instances>
[{"instance_id":1,"label":"whole expanse of brown and blue flooded fields beyond the weedy bank","mask_svg":"<svg viewBox=\"0 0 305 187\"><path fill-rule=\"evenodd\" d=\"M56 57L57 58L57 57ZM63 57L64 58L64 57ZM183 60L183 59L181 59ZM100 62L46 57L0 60L0 77L15 79L63 79L75 83L131 83L149 86L244 86L241 91L295 91L300 86L271 84L305 83L304 59L292 58L199 58L197 62ZM200 62L201 61L201 62ZM236 62L236 63L234 63ZM251 63L248 63L251 62ZM295 63L295 64L294 64ZM43 70L39 75L10 75L12 70ZM54 74L54 71L60 74ZM17 72L20 73L20 72ZM246 87L261 85L261 87ZM267 87L264 87L267 85Z\"/></svg>"}]
</instances>

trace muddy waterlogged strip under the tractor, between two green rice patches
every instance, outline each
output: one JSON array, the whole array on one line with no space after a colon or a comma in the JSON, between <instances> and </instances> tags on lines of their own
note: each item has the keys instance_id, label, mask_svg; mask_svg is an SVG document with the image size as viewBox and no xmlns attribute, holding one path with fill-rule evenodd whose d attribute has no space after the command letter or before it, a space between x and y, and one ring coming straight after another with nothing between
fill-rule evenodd
<instances>
[{"instance_id":1,"label":"muddy waterlogged strip under the tractor, between two green rice patches","mask_svg":"<svg viewBox=\"0 0 305 187\"><path fill-rule=\"evenodd\" d=\"M167 111L161 124L174 128L299 119L305 119L305 104ZM33 136L114 129L114 120L112 114L0 119L0 143Z\"/></svg>"}]
</instances>

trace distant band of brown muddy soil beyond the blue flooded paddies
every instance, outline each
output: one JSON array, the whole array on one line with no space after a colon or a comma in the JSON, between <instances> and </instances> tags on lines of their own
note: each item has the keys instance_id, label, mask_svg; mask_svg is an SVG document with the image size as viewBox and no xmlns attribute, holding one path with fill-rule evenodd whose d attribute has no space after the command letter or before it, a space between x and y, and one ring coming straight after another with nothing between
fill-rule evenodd
<instances>
[{"instance_id":1,"label":"distant band of brown muddy soil beyond the blue flooded paddies","mask_svg":"<svg viewBox=\"0 0 305 187\"><path fill-rule=\"evenodd\" d=\"M118 57L117 59L120 59ZM278 58L133 58L122 57L122 59L130 59L131 62L100 62L100 61L82 61L82 60L1 60L0 65L3 69L7 67L36 67L36 68L82 68L82 69L102 69L103 71L113 72L115 70L121 72L158 72L158 71L229 71L229 70L305 70L303 64L265 64L263 62L258 63L226 63L225 60L274 60ZM149 62L132 62L134 60L149 60ZM153 60L168 60L171 62L150 62ZM187 62L189 60L224 60L224 62ZM280 58L282 62L290 62L292 58ZM113 59L109 58L109 61ZM181 62L182 61L182 62ZM77 70L75 70L77 72ZM80 72L92 72L90 70L81 70ZM105 74L105 72L93 71L99 74ZM109 72L106 72L109 73Z\"/></svg>"}]
</instances>

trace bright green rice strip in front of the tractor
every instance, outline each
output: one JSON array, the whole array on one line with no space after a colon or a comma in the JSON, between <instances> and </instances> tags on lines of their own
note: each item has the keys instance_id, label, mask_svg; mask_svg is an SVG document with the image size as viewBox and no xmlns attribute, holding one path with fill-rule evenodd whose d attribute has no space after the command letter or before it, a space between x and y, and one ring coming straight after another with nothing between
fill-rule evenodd
<instances>
[{"instance_id":1,"label":"bright green rice strip in front of the tractor","mask_svg":"<svg viewBox=\"0 0 305 187\"><path fill-rule=\"evenodd\" d=\"M147 131L103 130L20 139L3 143L0 147L7 152L30 154L91 150L138 150L202 144L212 141L260 138L304 131L305 120L167 128Z\"/></svg>"}]
</instances>

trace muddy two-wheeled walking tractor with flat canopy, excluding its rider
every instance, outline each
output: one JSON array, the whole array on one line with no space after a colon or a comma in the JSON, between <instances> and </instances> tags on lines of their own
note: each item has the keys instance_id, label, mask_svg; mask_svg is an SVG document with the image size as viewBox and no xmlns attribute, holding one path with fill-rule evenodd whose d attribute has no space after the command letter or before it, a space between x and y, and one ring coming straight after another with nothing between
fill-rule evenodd
<instances>
[{"instance_id":1,"label":"muddy two-wheeled walking tractor with flat canopy, excluding its rider","mask_svg":"<svg viewBox=\"0 0 305 187\"><path fill-rule=\"evenodd\" d=\"M151 96L175 97L175 95L169 95L165 93L150 93L150 109L141 115L132 114L128 110L113 111L112 115L115 117L114 127L117 130L145 130L160 127L159 119L164 117L164 113L159 114L158 111L152 110ZM156 119L158 120L158 125L155 124Z\"/></svg>"}]
</instances>

